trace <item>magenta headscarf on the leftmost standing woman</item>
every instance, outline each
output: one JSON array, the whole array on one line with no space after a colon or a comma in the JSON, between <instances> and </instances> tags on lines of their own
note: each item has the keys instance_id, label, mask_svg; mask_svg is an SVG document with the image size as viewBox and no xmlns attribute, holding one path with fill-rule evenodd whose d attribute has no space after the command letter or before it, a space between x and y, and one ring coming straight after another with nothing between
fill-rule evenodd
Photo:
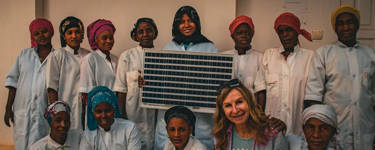
<instances>
[{"instance_id":1,"label":"magenta headscarf on the leftmost standing woman","mask_svg":"<svg viewBox=\"0 0 375 150\"><path fill-rule=\"evenodd\" d=\"M52 23L44 18L36 18L35 20L31 21L29 30L30 30L30 38L31 38L31 48L37 46L36 42L34 41L34 32L38 28L47 28L51 31L51 34L55 33L53 30Z\"/></svg>"}]
</instances>

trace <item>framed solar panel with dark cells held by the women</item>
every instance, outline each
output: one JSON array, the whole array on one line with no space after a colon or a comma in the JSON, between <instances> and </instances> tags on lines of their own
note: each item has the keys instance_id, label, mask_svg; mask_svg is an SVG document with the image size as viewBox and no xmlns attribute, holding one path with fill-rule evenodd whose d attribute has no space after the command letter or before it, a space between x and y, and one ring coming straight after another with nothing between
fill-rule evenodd
<instances>
[{"instance_id":1,"label":"framed solar panel with dark cells held by the women","mask_svg":"<svg viewBox=\"0 0 375 150\"><path fill-rule=\"evenodd\" d=\"M234 55L216 52L144 49L141 107L169 109L181 105L214 113L216 87L232 79Z\"/></svg>"}]
</instances>

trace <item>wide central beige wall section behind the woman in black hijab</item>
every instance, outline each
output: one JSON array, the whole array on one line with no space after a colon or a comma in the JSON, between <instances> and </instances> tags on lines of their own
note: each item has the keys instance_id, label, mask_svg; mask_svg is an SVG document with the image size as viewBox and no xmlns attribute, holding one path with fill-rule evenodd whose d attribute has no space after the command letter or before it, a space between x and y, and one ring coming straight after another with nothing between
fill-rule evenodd
<instances>
[{"instance_id":1,"label":"wide central beige wall section behind the woman in black hijab","mask_svg":"<svg viewBox=\"0 0 375 150\"><path fill-rule=\"evenodd\" d=\"M106 6L108 5L108 6ZM83 21L85 28L97 19L112 21L116 27L115 45L112 52L118 56L127 49L138 45L130 38L130 31L138 18L152 18L159 30L154 41L155 48L163 48L172 40L173 18L181 6L194 7L201 19L202 34L214 42L220 51L233 47L231 37L228 36L228 26L235 18L235 0L45 0L44 18L50 20L54 30L58 33L58 26L64 18L74 16ZM90 49L87 33L81 45ZM54 48L60 48L60 37L56 34L52 38Z\"/></svg>"}]
</instances>

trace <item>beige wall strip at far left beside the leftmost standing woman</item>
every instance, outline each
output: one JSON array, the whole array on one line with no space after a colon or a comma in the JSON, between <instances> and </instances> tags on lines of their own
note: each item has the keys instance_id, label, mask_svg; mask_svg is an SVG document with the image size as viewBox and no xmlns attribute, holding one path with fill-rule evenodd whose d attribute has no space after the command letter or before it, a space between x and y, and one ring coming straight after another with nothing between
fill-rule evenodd
<instances>
[{"instance_id":1,"label":"beige wall strip at far left beside the leftmost standing woman","mask_svg":"<svg viewBox=\"0 0 375 150\"><path fill-rule=\"evenodd\" d=\"M5 85L8 74L17 55L31 46L28 26L35 19L34 0L0 0L0 85ZM20 5L22 4L22 5ZM0 88L0 118L4 117L8 89ZM14 145L13 124L7 127L0 121L0 145Z\"/></svg>"}]
</instances>

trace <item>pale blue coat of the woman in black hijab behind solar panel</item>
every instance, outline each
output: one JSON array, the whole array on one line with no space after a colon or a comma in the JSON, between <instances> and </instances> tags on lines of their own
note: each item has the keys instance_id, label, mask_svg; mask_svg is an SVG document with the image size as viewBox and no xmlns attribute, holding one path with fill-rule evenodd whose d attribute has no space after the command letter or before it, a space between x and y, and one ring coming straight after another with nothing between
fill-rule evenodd
<instances>
[{"instance_id":1,"label":"pale blue coat of the woman in black hijab behind solar panel","mask_svg":"<svg viewBox=\"0 0 375 150\"><path fill-rule=\"evenodd\" d=\"M165 45L164 49L171 50L185 50L183 44L177 44L172 41ZM213 43L190 43L186 51L201 51L201 52L219 52ZM146 81L147 82L147 81ZM165 129L166 123L164 120L166 110L159 110L157 113L157 121L155 128L155 150L162 150L165 143L169 141ZM195 138L205 144L208 149L213 149L213 136L211 135L213 129L212 115L209 113L195 113Z\"/></svg>"}]
</instances>

